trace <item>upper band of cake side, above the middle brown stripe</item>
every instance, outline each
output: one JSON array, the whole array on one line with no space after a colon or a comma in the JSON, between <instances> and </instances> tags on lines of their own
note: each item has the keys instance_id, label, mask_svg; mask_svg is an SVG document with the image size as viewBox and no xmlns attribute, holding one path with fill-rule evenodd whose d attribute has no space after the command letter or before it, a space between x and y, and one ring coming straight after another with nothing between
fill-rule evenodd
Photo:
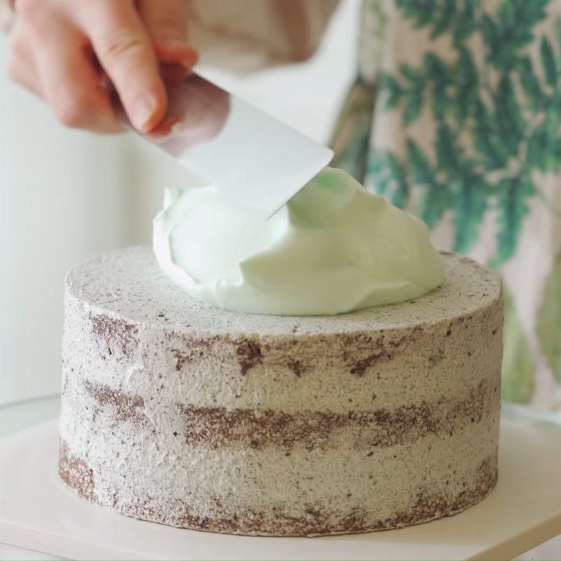
<instances>
[{"instance_id":1,"label":"upper band of cake side, above the middle brown stripe","mask_svg":"<svg viewBox=\"0 0 561 561\"><path fill-rule=\"evenodd\" d=\"M431 403L435 396L460 396L464 388L496 379L501 320L496 302L454 322L414 327L407 338L398 330L292 341L201 339L189 331L154 332L109 316L91 316L69 297L68 339L76 341L70 336L75 332L83 337L63 350L63 393L83 391L80 381L88 380L140 396L151 407L181 403L341 414L393 410L394 404L414 406ZM134 337L142 344L133 346Z\"/></svg>"}]
</instances>

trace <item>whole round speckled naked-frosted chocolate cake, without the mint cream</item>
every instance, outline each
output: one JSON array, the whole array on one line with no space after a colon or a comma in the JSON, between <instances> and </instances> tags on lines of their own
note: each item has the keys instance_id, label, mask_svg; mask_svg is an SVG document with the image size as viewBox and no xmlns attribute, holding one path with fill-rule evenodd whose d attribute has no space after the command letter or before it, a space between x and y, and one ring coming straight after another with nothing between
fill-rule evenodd
<instances>
[{"instance_id":1,"label":"whole round speckled naked-frosted chocolate cake, without the mint cream","mask_svg":"<svg viewBox=\"0 0 561 561\"><path fill-rule=\"evenodd\" d=\"M320 535L460 512L496 482L501 285L445 255L414 302L330 318L211 309L148 248L67 277L60 475L177 527Z\"/></svg>"}]
</instances>

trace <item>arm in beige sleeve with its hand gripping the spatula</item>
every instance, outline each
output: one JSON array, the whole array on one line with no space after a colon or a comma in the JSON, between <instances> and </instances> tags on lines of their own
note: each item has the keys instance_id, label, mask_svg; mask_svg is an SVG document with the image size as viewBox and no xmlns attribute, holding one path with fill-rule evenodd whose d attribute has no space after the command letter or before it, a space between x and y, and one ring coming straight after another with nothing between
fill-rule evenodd
<instances>
[{"instance_id":1,"label":"arm in beige sleeve with its hand gripping the spatula","mask_svg":"<svg viewBox=\"0 0 561 561\"><path fill-rule=\"evenodd\" d=\"M67 126L119 130L107 85L130 121L149 131L167 95L161 70L187 75L205 62L248 71L305 60L337 0L0 0L11 28L8 74ZM187 29L191 37L187 43ZM169 68L168 68L169 67Z\"/></svg>"}]
</instances>

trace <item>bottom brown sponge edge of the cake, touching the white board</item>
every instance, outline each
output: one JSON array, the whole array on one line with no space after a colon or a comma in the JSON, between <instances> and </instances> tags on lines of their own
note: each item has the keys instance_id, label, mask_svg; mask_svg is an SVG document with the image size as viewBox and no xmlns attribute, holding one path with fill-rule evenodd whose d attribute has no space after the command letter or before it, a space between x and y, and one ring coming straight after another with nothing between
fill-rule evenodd
<instances>
[{"instance_id":1,"label":"bottom brown sponge edge of the cake, touching the white board","mask_svg":"<svg viewBox=\"0 0 561 561\"><path fill-rule=\"evenodd\" d=\"M151 499L123 499L118 492L112 497L98 496L95 470L86 461L73 457L65 442L61 442L59 473L62 480L84 499L141 520L227 534L319 536L400 528L464 511L493 489L497 479L496 463L494 452L476 468L473 482L458 492L446 494L430 487L421 488L412 506L386 518L377 518L376 513L364 507L346 511L310 505L299 516L285 511L282 504L266 509L238 508L232 511L224 508L223 499L218 497L212 499L212 513L203 514L194 512L189 501L178 499L162 504Z\"/></svg>"}]
</instances>

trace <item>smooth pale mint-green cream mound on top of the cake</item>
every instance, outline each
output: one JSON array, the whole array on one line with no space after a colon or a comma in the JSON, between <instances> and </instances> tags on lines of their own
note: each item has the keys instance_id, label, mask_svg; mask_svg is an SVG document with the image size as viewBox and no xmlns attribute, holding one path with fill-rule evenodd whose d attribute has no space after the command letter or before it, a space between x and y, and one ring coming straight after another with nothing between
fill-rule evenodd
<instances>
[{"instance_id":1,"label":"smooth pale mint-green cream mound on top of the cake","mask_svg":"<svg viewBox=\"0 0 561 561\"><path fill-rule=\"evenodd\" d=\"M191 297L247 313L344 313L419 297L444 278L421 220L332 168L269 219L215 187L168 189L154 251Z\"/></svg>"}]
</instances>

